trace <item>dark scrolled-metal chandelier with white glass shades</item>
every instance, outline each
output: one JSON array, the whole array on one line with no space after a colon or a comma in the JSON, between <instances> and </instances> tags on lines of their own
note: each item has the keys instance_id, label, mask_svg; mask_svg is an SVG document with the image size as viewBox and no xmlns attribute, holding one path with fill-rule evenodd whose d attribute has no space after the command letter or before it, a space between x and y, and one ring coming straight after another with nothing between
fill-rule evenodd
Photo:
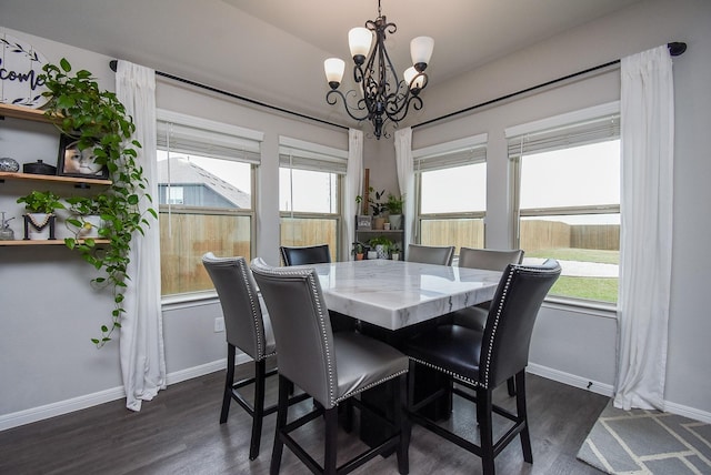
<instances>
[{"instance_id":1,"label":"dark scrolled-metal chandelier with white glass shades","mask_svg":"<svg viewBox=\"0 0 711 475\"><path fill-rule=\"evenodd\" d=\"M413 65L404 71L403 79L400 80L385 49L385 33L393 34L397 30L398 27L388 23L381 13L378 0L378 18L374 21L368 20L365 27L353 28L348 33L354 63L353 80L358 92L350 90L343 94L338 90L346 69L343 60L329 58L323 62L326 79L331 87L326 94L326 101L333 105L340 97L346 112L351 118L372 122L373 134L378 140L383 134L385 138L390 137L383 129L388 121L397 127L408 114L410 105L415 110L422 109L419 93L427 87L428 77L424 70L434 47L434 40L430 37L413 39L410 42Z\"/></svg>"}]
</instances>

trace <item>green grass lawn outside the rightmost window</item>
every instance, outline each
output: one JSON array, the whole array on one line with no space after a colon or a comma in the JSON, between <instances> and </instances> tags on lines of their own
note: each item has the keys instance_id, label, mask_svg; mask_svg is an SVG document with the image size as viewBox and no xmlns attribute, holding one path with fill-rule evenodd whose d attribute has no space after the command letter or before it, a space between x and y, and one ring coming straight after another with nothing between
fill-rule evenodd
<instances>
[{"instance_id":1,"label":"green grass lawn outside the rightmost window","mask_svg":"<svg viewBox=\"0 0 711 475\"><path fill-rule=\"evenodd\" d=\"M560 261L597 262L601 264L620 263L619 251L598 251L591 249L549 249L538 252L527 252L525 256L557 259ZM618 279L561 276L553 285L553 289L551 289L550 294L573 299L617 303Z\"/></svg>"}]
</instances>

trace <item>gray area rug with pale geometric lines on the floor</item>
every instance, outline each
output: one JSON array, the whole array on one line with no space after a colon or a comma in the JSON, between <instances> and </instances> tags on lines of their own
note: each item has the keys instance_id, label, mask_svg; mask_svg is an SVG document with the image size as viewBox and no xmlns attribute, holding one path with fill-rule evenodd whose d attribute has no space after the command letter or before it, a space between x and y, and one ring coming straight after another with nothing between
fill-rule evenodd
<instances>
[{"instance_id":1,"label":"gray area rug with pale geometric lines on the floor","mask_svg":"<svg viewBox=\"0 0 711 475\"><path fill-rule=\"evenodd\" d=\"M578 458L608 474L711 474L711 424L610 401Z\"/></svg>"}]
</instances>

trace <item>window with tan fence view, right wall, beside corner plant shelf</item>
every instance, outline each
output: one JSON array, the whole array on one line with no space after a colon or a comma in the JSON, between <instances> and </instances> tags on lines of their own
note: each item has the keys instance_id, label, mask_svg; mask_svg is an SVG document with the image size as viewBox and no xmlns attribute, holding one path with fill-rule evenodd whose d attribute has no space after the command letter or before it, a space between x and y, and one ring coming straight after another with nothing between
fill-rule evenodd
<instances>
[{"instance_id":1,"label":"window with tan fence view, right wall, beside corner plant shelf","mask_svg":"<svg viewBox=\"0 0 711 475\"><path fill-rule=\"evenodd\" d=\"M413 151L420 244L483 247L485 143L481 134Z\"/></svg>"}]
</instances>

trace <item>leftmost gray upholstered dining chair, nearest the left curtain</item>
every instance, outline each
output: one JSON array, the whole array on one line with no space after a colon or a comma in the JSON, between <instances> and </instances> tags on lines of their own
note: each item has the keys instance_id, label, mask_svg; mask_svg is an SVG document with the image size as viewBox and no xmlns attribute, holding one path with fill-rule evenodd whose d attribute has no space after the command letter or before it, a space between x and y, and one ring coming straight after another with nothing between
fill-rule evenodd
<instances>
[{"instance_id":1,"label":"leftmost gray upholstered dining chair, nearest the left curtain","mask_svg":"<svg viewBox=\"0 0 711 475\"><path fill-rule=\"evenodd\" d=\"M264 407L264 383L277 370L267 371L267 360L277 354L274 334L269 314L263 309L244 257L216 257L208 252L202 256L204 265L220 299L227 337L227 376L222 396L220 424L227 422L230 402L234 400L252 417L252 438L249 458L259 456L262 418L277 412L277 405ZM254 375L234 382L234 357L240 348L254 361ZM253 404L239 392L254 384ZM307 394L292 397L291 403L303 401Z\"/></svg>"}]
</instances>

